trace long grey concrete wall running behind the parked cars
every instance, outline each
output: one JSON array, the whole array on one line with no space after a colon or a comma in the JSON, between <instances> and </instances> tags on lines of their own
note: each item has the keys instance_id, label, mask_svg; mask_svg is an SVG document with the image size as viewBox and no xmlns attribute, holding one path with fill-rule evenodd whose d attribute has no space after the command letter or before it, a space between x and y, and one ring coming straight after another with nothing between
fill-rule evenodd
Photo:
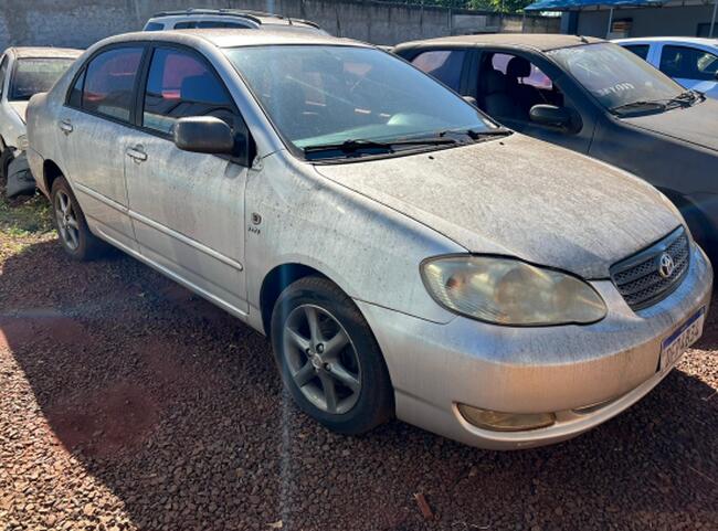
<instances>
[{"instance_id":1,"label":"long grey concrete wall running behind the parked cars","mask_svg":"<svg viewBox=\"0 0 718 531\"><path fill-rule=\"evenodd\" d=\"M240 8L308 19L328 32L376 44L486 31L521 31L520 17L369 0L0 0L0 51L9 45L86 47L140 30L158 12ZM558 19L528 19L529 31L558 32Z\"/></svg>"}]
</instances>

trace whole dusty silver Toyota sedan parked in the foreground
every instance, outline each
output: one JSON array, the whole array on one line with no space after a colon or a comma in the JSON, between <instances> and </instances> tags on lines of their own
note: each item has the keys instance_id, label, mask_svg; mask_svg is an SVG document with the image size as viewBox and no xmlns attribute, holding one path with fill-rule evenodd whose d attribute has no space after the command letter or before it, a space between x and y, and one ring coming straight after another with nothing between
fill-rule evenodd
<instances>
[{"instance_id":1,"label":"whole dusty silver Toyota sedan parked in the foreground","mask_svg":"<svg viewBox=\"0 0 718 531\"><path fill-rule=\"evenodd\" d=\"M119 247L266 333L341 433L567 439L701 333L712 272L663 195L362 43L119 35L28 119L64 249Z\"/></svg>"}]
</instances>

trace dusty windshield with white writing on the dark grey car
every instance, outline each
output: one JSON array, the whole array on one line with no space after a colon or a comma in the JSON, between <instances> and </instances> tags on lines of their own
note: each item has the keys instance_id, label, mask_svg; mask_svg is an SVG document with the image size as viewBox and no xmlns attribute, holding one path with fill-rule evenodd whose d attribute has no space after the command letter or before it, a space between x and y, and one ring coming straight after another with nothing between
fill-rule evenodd
<instances>
[{"instance_id":1,"label":"dusty windshield with white writing on the dark grey car","mask_svg":"<svg viewBox=\"0 0 718 531\"><path fill-rule=\"evenodd\" d=\"M608 109L667 102L685 92L634 53L608 42L552 50L548 55Z\"/></svg>"}]
</instances>

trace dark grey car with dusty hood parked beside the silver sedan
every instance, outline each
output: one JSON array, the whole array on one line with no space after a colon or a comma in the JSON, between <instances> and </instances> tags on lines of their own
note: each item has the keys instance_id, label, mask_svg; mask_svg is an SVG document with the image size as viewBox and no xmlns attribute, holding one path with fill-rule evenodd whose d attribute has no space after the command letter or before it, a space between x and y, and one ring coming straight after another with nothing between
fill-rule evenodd
<instances>
[{"instance_id":1,"label":"dark grey car with dusty hood parked beside the silver sedan","mask_svg":"<svg viewBox=\"0 0 718 531\"><path fill-rule=\"evenodd\" d=\"M718 102L593 38L462 35L393 52L504 125L651 182L716 255Z\"/></svg>"}]
</instances>

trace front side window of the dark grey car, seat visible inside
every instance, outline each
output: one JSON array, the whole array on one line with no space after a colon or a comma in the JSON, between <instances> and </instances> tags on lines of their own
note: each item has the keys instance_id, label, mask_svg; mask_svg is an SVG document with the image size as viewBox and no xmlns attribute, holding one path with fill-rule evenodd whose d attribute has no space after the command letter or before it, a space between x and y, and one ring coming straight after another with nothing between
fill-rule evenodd
<instances>
[{"instance_id":1,"label":"front side window of the dark grey car, seat visible inside","mask_svg":"<svg viewBox=\"0 0 718 531\"><path fill-rule=\"evenodd\" d=\"M530 121L535 105L563 107L559 87L526 57L508 53L488 53L482 57L477 102L489 116L514 121Z\"/></svg>"}]
</instances>

